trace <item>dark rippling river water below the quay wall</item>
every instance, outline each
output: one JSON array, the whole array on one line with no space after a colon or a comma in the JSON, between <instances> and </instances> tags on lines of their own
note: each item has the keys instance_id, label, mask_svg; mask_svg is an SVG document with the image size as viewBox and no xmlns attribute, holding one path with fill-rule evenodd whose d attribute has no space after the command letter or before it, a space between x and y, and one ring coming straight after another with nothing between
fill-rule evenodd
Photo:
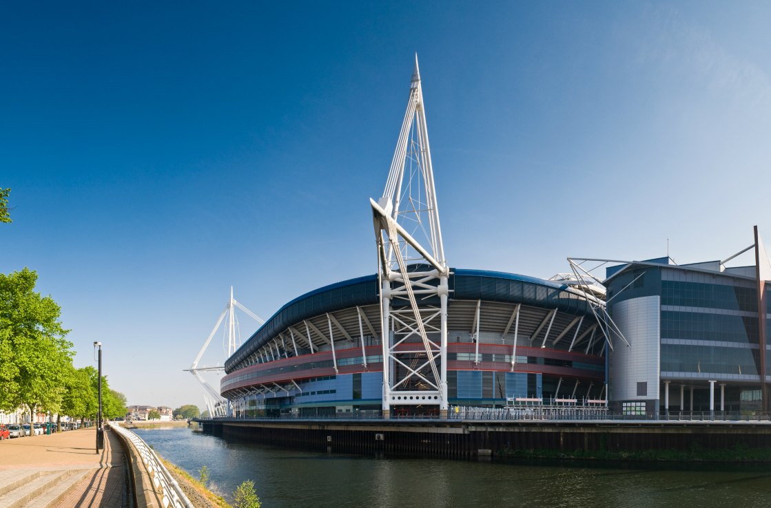
<instances>
[{"instance_id":1,"label":"dark rippling river water below the quay wall","mask_svg":"<svg viewBox=\"0 0 771 508\"><path fill-rule=\"evenodd\" d=\"M498 463L287 450L190 429L137 429L197 478L207 466L228 500L254 480L265 508L305 506L771 506L771 466Z\"/></svg>"}]
</instances>

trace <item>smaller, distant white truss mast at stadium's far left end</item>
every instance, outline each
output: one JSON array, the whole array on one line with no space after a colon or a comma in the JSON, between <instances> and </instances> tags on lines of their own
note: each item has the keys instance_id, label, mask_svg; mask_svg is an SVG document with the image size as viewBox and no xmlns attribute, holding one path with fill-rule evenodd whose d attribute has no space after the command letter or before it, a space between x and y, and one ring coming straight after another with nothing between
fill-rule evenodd
<instances>
[{"instance_id":1,"label":"smaller, distant white truss mast at stadium's far left end","mask_svg":"<svg viewBox=\"0 0 771 508\"><path fill-rule=\"evenodd\" d=\"M251 317L261 325L265 323L264 319L262 319L257 314L254 314L254 312L251 312L251 310L247 309L246 307L241 305L240 302L237 302L237 300L233 298L233 286L231 286L231 298L227 300L227 305L225 306L225 309L220 314L220 319L217 319L217 324L215 324L214 329L211 330L209 337L206 339L206 342L204 343L204 346L200 348L198 355L193 360L193 364L190 365L190 369L186 369L187 372L195 376L195 378L198 380L201 386L204 387L204 390L206 390L206 393L204 394L204 401L206 402L206 407L209 410L209 414L213 417L227 416L227 413L228 413L227 399L221 396L220 393L217 392L217 390L214 389L214 387L211 386L206 379L204 379L204 376L200 375L200 373L224 371L225 368L224 366L199 367L198 363L200 362L201 357L204 356L206 349L209 347L209 343L211 342L211 339L214 338L214 335L217 333L217 330L220 329L222 321L225 319L226 315L227 315L227 356L230 357L233 353L235 353L236 349L238 349L241 346L240 334L238 333L238 328L239 328L238 318L235 312L236 307L246 312L247 316Z\"/></svg>"}]
</instances>

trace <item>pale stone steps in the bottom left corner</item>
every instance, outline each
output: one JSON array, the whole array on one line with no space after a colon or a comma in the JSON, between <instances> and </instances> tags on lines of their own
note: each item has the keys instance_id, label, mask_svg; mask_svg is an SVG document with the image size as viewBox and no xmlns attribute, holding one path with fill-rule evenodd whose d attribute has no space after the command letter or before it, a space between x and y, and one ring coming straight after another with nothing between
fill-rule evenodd
<instances>
[{"instance_id":1,"label":"pale stone steps in the bottom left corner","mask_svg":"<svg viewBox=\"0 0 771 508\"><path fill-rule=\"evenodd\" d=\"M0 470L0 506L46 508L57 502L94 468Z\"/></svg>"}]
</instances>

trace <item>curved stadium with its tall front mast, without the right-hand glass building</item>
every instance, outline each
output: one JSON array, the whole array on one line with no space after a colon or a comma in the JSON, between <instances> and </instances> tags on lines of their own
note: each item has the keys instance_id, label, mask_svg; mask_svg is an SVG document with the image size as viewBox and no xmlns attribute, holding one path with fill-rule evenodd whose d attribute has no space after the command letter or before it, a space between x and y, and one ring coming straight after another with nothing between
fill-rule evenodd
<instances>
[{"instance_id":1,"label":"curved stadium with its tall front mast, without the right-hand glass building","mask_svg":"<svg viewBox=\"0 0 771 508\"><path fill-rule=\"evenodd\" d=\"M580 276L449 268L417 60L389 178L370 201L379 272L299 296L247 339L221 379L231 414L605 405L598 288Z\"/></svg>"}]
</instances>

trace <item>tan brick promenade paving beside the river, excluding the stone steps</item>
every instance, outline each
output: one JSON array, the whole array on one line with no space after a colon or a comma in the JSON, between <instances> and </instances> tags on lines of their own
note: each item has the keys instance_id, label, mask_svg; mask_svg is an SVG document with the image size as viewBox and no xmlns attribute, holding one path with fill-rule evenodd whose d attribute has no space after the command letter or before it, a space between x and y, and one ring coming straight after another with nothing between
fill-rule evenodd
<instances>
[{"instance_id":1,"label":"tan brick promenade paving beside the river, excluding the stone steps","mask_svg":"<svg viewBox=\"0 0 771 508\"><path fill-rule=\"evenodd\" d=\"M0 470L91 469L56 506L118 508L130 506L126 460L120 437L105 432L105 447L96 453L96 429L70 430L0 442Z\"/></svg>"}]
</instances>

